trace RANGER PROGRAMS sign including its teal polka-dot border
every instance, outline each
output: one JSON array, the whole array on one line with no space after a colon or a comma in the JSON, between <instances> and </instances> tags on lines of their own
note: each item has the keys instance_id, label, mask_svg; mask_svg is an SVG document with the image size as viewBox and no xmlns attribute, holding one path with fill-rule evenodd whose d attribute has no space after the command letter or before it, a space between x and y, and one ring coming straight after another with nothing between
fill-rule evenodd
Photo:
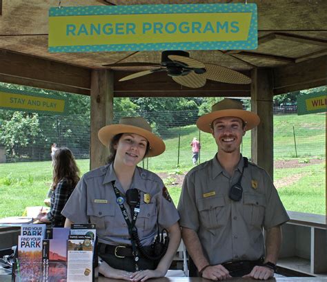
<instances>
[{"instance_id":1,"label":"RANGER PROGRAMS sign including its teal polka-dot border","mask_svg":"<svg viewBox=\"0 0 327 282\"><path fill-rule=\"evenodd\" d=\"M50 53L135 50L253 50L257 5L178 4L56 7Z\"/></svg>"}]
</instances>

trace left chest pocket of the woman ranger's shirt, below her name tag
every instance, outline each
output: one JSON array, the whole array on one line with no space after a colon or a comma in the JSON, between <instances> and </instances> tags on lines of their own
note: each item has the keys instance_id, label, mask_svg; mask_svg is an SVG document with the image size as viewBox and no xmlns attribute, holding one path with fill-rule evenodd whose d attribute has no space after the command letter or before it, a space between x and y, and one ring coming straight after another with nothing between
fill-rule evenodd
<instances>
[{"instance_id":1,"label":"left chest pocket of the woman ranger's shirt, below her name tag","mask_svg":"<svg viewBox=\"0 0 327 282\"><path fill-rule=\"evenodd\" d=\"M105 230L106 225L115 218L115 207L110 204L92 203L88 205L86 212L90 217L90 222L95 223L97 229L101 230Z\"/></svg>"}]
</instances>

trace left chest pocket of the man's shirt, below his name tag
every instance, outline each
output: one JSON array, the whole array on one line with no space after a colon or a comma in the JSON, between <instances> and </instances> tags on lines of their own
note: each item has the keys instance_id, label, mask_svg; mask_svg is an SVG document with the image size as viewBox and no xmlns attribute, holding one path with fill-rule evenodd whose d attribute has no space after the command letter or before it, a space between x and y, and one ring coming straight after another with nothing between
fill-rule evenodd
<instances>
[{"instance_id":1,"label":"left chest pocket of the man's shirt, below his name tag","mask_svg":"<svg viewBox=\"0 0 327 282\"><path fill-rule=\"evenodd\" d=\"M201 224L208 229L226 225L224 196L201 198L197 202Z\"/></svg>"}]
</instances>

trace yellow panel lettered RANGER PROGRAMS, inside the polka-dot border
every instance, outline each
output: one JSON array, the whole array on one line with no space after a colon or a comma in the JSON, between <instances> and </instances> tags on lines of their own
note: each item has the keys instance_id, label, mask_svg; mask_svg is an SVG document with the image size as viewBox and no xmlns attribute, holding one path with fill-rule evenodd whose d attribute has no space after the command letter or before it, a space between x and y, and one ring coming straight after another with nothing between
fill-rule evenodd
<instances>
[{"instance_id":1,"label":"yellow panel lettered RANGER PROGRAMS, inside the polka-dot border","mask_svg":"<svg viewBox=\"0 0 327 282\"><path fill-rule=\"evenodd\" d=\"M196 21L195 21L196 19ZM107 15L53 17L49 46L93 44L147 44L180 41L244 41L250 12L178 15ZM240 26L242 23L242 28ZM140 36L141 35L141 36Z\"/></svg>"}]
</instances>

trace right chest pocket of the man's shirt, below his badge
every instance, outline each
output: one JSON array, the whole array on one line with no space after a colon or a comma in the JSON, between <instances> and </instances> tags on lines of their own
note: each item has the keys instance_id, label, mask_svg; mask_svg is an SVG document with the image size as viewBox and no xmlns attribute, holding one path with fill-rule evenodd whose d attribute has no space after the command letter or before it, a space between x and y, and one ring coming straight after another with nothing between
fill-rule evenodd
<instances>
[{"instance_id":1,"label":"right chest pocket of the man's shirt, below his badge","mask_svg":"<svg viewBox=\"0 0 327 282\"><path fill-rule=\"evenodd\" d=\"M244 194L244 218L247 223L261 227L264 222L266 198L260 194Z\"/></svg>"}]
</instances>

